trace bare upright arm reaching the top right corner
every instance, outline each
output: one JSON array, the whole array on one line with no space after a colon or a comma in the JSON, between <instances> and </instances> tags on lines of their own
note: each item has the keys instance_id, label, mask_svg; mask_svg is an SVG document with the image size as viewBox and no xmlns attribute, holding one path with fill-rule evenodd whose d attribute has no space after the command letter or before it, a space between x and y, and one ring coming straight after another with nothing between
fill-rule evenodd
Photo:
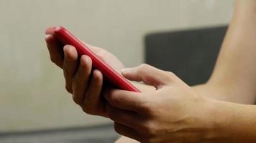
<instances>
[{"instance_id":1,"label":"bare upright arm reaching the top right corner","mask_svg":"<svg viewBox=\"0 0 256 143\"><path fill-rule=\"evenodd\" d=\"M201 95L255 103L256 1L235 1L234 14L209 82L193 87Z\"/></svg>"}]
</instances>

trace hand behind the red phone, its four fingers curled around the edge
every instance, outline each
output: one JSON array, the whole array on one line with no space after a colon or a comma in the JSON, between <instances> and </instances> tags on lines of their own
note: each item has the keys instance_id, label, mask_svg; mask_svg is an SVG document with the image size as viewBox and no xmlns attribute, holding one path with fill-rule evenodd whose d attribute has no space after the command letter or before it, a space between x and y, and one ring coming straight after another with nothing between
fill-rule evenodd
<instances>
[{"instance_id":1,"label":"hand behind the red phone, its four fingers curled around the edge","mask_svg":"<svg viewBox=\"0 0 256 143\"><path fill-rule=\"evenodd\" d=\"M53 63L63 69L65 77L65 89L73 94L76 102L84 112L93 115L108 117L105 110L104 99L101 98L103 75L101 71L92 70L91 58L83 55L79 59L76 48L70 45L62 46L52 36L52 31L45 31L45 41ZM97 56L113 67L116 71L124 68L119 59L108 51L96 46L86 44Z\"/></svg>"}]
</instances>

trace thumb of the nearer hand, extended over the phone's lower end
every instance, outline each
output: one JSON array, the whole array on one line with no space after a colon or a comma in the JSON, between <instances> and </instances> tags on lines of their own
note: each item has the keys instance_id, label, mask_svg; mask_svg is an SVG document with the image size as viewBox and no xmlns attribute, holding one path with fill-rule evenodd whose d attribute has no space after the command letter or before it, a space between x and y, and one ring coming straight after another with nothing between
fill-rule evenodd
<instances>
[{"instance_id":1,"label":"thumb of the nearer hand, extended over the phone's lower end","mask_svg":"<svg viewBox=\"0 0 256 143\"><path fill-rule=\"evenodd\" d=\"M175 75L168 71L163 71L150 66L148 64L141 64L134 68L122 69L122 75L132 81L144 82L154 87L161 85L168 85L175 79Z\"/></svg>"}]
</instances>

